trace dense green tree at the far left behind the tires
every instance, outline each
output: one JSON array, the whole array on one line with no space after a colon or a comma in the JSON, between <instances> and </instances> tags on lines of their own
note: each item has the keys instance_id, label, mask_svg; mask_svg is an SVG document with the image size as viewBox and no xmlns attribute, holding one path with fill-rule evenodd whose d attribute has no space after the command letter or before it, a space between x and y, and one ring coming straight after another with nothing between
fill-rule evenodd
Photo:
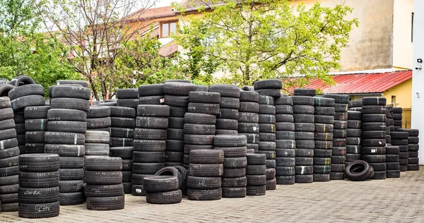
<instances>
[{"instance_id":1,"label":"dense green tree at the far left behind the tires","mask_svg":"<svg viewBox=\"0 0 424 223\"><path fill-rule=\"evenodd\" d=\"M45 90L59 79L80 79L56 38L37 33L37 1L0 1L0 78L26 75Z\"/></svg>"}]
</instances>

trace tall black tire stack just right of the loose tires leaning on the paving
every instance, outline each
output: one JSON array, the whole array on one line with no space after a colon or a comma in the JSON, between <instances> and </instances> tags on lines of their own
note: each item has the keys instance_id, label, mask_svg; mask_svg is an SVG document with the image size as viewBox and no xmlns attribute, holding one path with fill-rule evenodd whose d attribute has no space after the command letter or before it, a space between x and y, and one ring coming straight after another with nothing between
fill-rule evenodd
<instances>
[{"instance_id":1,"label":"tall black tire stack just right of the loose tires leaning on the paving","mask_svg":"<svg viewBox=\"0 0 424 223\"><path fill-rule=\"evenodd\" d=\"M372 179L386 178L386 109L384 105L386 105L384 97L363 98L361 159L374 169Z\"/></svg>"}]
</instances>

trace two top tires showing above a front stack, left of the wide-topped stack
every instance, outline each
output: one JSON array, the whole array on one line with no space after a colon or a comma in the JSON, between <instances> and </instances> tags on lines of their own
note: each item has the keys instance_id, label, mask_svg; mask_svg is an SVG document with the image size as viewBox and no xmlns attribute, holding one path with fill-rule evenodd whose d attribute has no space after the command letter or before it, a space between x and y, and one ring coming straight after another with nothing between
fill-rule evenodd
<instances>
[{"instance_id":1,"label":"two top tires showing above a front stack, left of the wide-topped stack","mask_svg":"<svg viewBox=\"0 0 424 223\"><path fill-rule=\"evenodd\" d=\"M140 85L139 104L165 104L163 84Z\"/></svg>"}]
</instances>

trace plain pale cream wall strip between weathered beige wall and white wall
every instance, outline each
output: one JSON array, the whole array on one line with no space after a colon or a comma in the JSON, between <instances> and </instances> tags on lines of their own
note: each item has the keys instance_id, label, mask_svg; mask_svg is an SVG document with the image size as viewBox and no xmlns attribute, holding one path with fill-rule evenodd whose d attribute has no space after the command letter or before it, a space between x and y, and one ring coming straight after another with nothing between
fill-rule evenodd
<instances>
[{"instance_id":1,"label":"plain pale cream wall strip between weathered beige wall and white wall","mask_svg":"<svg viewBox=\"0 0 424 223\"><path fill-rule=\"evenodd\" d=\"M412 13L413 0L394 0L393 66L396 68L412 68Z\"/></svg>"}]
</instances>

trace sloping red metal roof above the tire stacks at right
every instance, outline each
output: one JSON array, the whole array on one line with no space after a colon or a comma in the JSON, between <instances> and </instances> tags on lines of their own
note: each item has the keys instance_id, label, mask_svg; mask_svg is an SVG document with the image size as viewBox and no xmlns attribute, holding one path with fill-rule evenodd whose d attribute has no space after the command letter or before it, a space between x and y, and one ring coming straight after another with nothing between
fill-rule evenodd
<instances>
[{"instance_id":1,"label":"sloping red metal roof above the tire stacks at right","mask_svg":"<svg viewBox=\"0 0 424 223\"><path fill-rule=\"evenodd\" d=\"M302 88L320 89L324 93L360 94L378 93L389 90L412 78L412 71L395 71L386 73L357 73L334 75L336 85L323 85L322 80L313 78L310 84Z\"/></svg>"}]
</instances>

